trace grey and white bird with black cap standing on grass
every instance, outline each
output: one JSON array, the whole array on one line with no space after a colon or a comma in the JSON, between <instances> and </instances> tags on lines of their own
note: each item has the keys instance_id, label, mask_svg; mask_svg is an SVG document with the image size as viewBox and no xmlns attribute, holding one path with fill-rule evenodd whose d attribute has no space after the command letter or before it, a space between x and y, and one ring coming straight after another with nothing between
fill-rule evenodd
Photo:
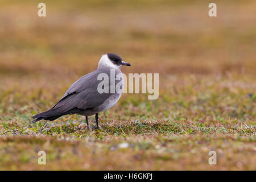
<instances>
[{"instance_id":1,"label":"grey and white bird with black cap standing on grass","mask_svg":"<svg viewBox=\"0 0 256 182\"><path fill-rule=\"evenodd\" d=\"M98 113L115 105L122 95L123 76L121 67L123 65L131 66L130 63L123 61L122 58L115 53L105 53L101 56L96 71L79 78L79 80L69 87L55 106L43 113L32 116L34 120L29 124L40 120L53 121L67 114L80 114L85 116L87 127L89 127L88 117L95 114L97 126L94 127L94 129L99 129ZM119 80L115 79L114 82L109 81L107 89L110 90L113 84L117 84L118 81L121 81L121 92L98 92L98 84L101 82L101 80L98 80L98 76L101 73L110 76L112 71L114 71L115 77L117 77L119 73L121 73L121 77ZM111 78L109 80L111 80ZM104 86L102 86L102 88L104 88Z\"/></svg>"}]
</instances>

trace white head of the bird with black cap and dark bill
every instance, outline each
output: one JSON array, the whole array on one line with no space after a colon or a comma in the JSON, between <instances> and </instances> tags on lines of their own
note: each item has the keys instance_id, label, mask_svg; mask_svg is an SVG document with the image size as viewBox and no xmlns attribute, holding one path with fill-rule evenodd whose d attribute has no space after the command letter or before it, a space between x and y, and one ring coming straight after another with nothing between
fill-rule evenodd
<instances>
[{"instance_id":1,"label":"white head of the bird with black cap and dark bill","mask_svg":"<svg viewBox=\"0 0 256 182\"><path fill-rule=\"evenodd\" d=\"M115 53L106 53L101 56L100 61L98 62L98 68L121 68L123 65L131 66L130 63L126 63L122 58Z\"/></svg>"}]
</instances>

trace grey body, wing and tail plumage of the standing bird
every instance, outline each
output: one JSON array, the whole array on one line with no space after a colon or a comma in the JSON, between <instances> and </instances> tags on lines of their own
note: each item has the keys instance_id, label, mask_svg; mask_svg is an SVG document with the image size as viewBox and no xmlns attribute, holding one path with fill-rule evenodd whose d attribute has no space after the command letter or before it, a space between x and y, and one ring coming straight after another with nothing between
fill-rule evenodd
<instances>
[{"instance_id":1,"label":"grey body, wing and tail plumage of the standing bird","mask_svg":"<svg viewBox=\"0 0 256 182\"><path fill-rule=\"evenodd\" d=\"M110 57L109 54L107 55ZM103 60L103 62L104 61L106 60ZM113 63L112 59L110 61ZM122 62L124 65L125 62ZM34 118L34 121L31 123L35 123L42 119L53 121L66 114L81 114L89 116L108 109L107 105L109 104L110 100L116 100L115 102L117 102L121 94L110 93L110 86L113 84L110 82L110 79L109 92L98 93L97 87L101 80L97 80L97 77L100 73L106 73L110 77L110 67L105 65L102 66L99 64L99 67L96 71L82 76L79 80L70 86L67 92L65 92L64 96L60 99L59 102L57 102L55 106L47 111L44 111L43 113L34 115L32 117ZM117 69L115 69L115 76L118 73L121 73L121 70L117 67ZM117 84L119 81L120 80L115 80L115 84Z\"/></svg>"}]
</instances>

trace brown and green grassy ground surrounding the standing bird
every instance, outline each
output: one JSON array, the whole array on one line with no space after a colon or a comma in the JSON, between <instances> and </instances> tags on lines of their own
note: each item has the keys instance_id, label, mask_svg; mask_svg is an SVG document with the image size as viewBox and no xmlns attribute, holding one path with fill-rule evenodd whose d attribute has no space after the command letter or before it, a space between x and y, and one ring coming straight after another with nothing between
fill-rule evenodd
<instances>
[{"instance_id":1,"label":"brown and green grassy ground surrounding the standing bird","mask_svg":"<svg viewBox=\"0 0 256 182\"><path fill-rule=\"evenodd\" d=\"M255 1L216 1L213 18L208 1L44 1L46 17L38 3L0 2L1 170L256 169ZM106 52L159 73L158 100L123 94L99 130L27 125Z\"/></svg>"}]
</instances>

